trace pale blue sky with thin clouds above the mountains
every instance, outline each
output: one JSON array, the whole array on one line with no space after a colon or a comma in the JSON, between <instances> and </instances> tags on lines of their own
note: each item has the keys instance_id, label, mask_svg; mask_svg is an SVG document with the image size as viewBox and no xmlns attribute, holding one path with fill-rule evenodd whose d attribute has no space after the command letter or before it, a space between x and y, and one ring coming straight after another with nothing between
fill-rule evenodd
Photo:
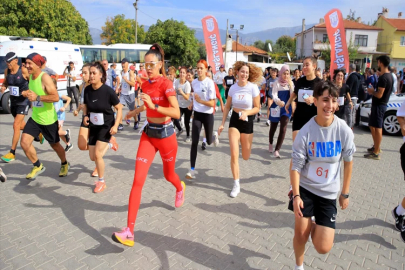
<instances>
[{"instance_id":1,"label":"pale blue sky with thin clouds above the mountains","mask_svg":"<svg viewBox=\"0 0 405 270\"><path fill-rule=\"evenodd\" d=\"M124 14L126 18L135 19L135 0L71 0L89 26L101 30L107 17ZM366 4L365 4L366 2ZM349 11L355 11L362 21L373 22L384 7L389 9L388 17L397 18L398 12L404 13L403 0L139 0L138 24L152 25L157 19L162 21L175 19L187 26L201 28L201 19L213 15L221 29L229 24L244 25L244 32L251 33L276 27L293 27L301 25L305 18L307 24L318 23L320 18L331 9L338 8L346 17ZM402 3L402 4L401 4Z\"/></svg>"}]
</instances>

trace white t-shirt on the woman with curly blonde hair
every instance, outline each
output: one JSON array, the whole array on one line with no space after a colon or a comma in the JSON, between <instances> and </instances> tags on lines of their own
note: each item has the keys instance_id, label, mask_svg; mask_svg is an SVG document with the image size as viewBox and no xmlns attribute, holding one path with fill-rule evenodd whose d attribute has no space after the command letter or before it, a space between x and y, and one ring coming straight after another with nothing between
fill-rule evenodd
<instances>
[{"instance_id":1,"label":"white t-shirt on the woman with curly blonde hair","mask_svg":"<svg viewBox=\"0 0 405 270\"><path fill-rule=\"evenodd\" d=\"M244 87L240 87L237 83L232 85L228 96L232 98L233 108L251 110L253 108L253 98L259 94L259 87L254 83L248 82Z\"/></svg>"}]
</instances>

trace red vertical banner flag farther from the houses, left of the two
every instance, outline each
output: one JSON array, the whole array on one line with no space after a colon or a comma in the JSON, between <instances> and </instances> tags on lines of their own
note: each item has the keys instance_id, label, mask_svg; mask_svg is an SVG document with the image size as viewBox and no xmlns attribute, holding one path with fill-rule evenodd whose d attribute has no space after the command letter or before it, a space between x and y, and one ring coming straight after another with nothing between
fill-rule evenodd
<instances>
[{"instance_id":1,"label":"red vertical banner flag farther from the houses, left of the two","mask_svg":"<svg viewBox=\"0 0 405 270\"><path fill-rule=\"evenodd\" d=\"M219 67L224 64L221 37L217 20L209 15L202 20L205 48L207 50L208 65L212 67L212 72L215 74L219 71Z\"/></svg>"}]
</instances>

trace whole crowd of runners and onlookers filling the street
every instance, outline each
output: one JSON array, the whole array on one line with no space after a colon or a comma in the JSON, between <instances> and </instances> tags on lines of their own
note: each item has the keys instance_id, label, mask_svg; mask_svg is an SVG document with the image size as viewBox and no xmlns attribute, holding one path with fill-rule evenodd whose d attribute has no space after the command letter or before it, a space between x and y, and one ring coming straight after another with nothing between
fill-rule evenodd
<instances>
[{"instance_id":1,"label":"whole crowd of runners and onlookers filling the street","mask_svg":"<svg viewBox=\"0 0 405 270\"><path fill-rule=\"evenodd\" d=\"M287 126L292 121L290 189L286 189L286 193L290 199L288 208L295 215L295 269L303 269L309 237L317 252L324 254L331 250L337 219L336 201L341 209L349 205L353 154L356 151L353 133L355 104L372 98L369 126L373 146L368 149L365 158L378 160L382 117L389 96L400 89L389 70L390 59L387 56L377 59L378 76L374 76L370 69L361 75L355 65L350 65L348 74L344 69L334 70L333 74L324 70L321 74L314 57L305 58L302 69L294 71L283 65L280 70L269 67L262 72L252 63L237 61L228 72L222 65L213 74L205 60L198 61L196 72L190 67L169 67L166 70L164 51L159 44L153 44L139 71L129 66L126 58L121 60L121 76L117 75L114 66L108 67L106 60L85 64L81 70L83 84L78 89L72 86L78 73L74 64L70 63L70 68L64 71L70 82L68 96L63 96L58 94L52 72L42 68L46 60L41 55L30 54L25 67L18 65L15 53L8 53L5 59L7 69L1 90L4 92L8 88L12 93L14 131L10 152L1 159L7 163L15 160L22 131L21 148L33 164L31 172L26 175L28 180L36 179L45 171L33 141L43 143L47 140L61 161L59 176L68 175L70 163L66 153L73 144L70 130L63 129L63 122L70 107L75 116L82 111L81 121L78 121L77 146L82 151L89 151L90 160L95 163L91 175L98 177L94 192L103 192L107 187L103 157L108 149L118 150L114 135L123 129L123 121L130 125L133 119L134 129L142 134L135 158L127 225L112 235L114 241L126 246L135 243L134 227L142 188L158 151L164 177L175 188L175 207L184 204L186 184L175 172L177 141L184 130L185 142L191 143L190 170L185 178L197 181L197 153L202 129L201 148L206 150L211 144L219 144L219 136L226 129L225 123L229 119L227 141L233 177L230 197L235 198L241 192L239 151L241 149L244 160L249 159L254 122L255 119L260 121L262 108L267 111L266 124L270 126L268 150L274 158L280 158ZM76 110L73 110L72 101ZM125 116L123 106L129 109ZM31 107L32 115L25 122ZM216 131L214 114L219 110L222 121ZM142 113L146 119L140 126ZM405 141L405 104L398 111L398 121ZM277 128L280 130L274 145ZM60 140L66 144L65 147ZM400 153L405 174L405 144ZM4 182L6 176L2 171L0 176ZM395 226L405 241L405 198L392 214Z\"/></svg>"}]
</instances>

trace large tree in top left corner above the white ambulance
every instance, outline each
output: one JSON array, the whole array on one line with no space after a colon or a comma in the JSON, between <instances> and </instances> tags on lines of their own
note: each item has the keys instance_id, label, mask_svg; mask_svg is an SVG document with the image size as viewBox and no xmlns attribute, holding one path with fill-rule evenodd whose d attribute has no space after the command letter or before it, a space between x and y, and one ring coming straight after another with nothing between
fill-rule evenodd
<instances>
[{"instance_id":1,"label":"large tree in top left corner above the white ambulance","mask_svg":"<svg viewBox=\"0 0 405 270\"><path fill-rule=\"evenodd\" d=\"M0 35L92 44L86 20L68 0L2 0Z\"/></svg>"}]
</instances>

